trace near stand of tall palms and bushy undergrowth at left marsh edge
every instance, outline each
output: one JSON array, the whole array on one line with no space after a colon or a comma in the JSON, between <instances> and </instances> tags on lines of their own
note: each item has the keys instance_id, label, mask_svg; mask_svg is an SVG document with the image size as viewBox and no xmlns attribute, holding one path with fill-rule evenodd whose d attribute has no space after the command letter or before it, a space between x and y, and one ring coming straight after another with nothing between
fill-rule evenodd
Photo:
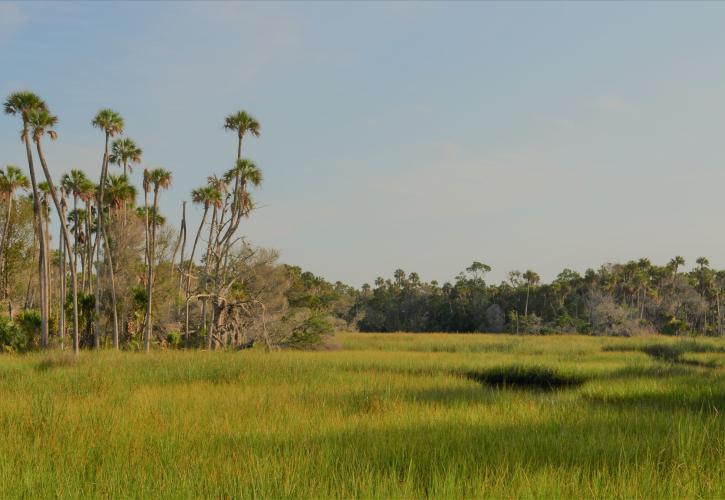
<instances>
[{"instance_id":1,"label":"near stand of tall palms and bushy undergrowth at left marsh edge","mask_svg":"<svg viewBox=\"0 0 725 500\"><path fill-rule=\"evenodd\" d=\"M44 141L59 135L43 99L17 92L4 110L22 126L27 170L0 169L0 352L324 344L328 319L290 305L293 275L276 252L240 233L262 183L242 154L245 139L260 135L251 115L224 120L235 138L229 163L191 193L200 224L187 228L184 201L177 228L159 210L173 173L134 172L143 151L118 112L102 109L90 120L100 132L93 180L81 169L61 173L46 157Z\"/></svg>"}]
</instances>

